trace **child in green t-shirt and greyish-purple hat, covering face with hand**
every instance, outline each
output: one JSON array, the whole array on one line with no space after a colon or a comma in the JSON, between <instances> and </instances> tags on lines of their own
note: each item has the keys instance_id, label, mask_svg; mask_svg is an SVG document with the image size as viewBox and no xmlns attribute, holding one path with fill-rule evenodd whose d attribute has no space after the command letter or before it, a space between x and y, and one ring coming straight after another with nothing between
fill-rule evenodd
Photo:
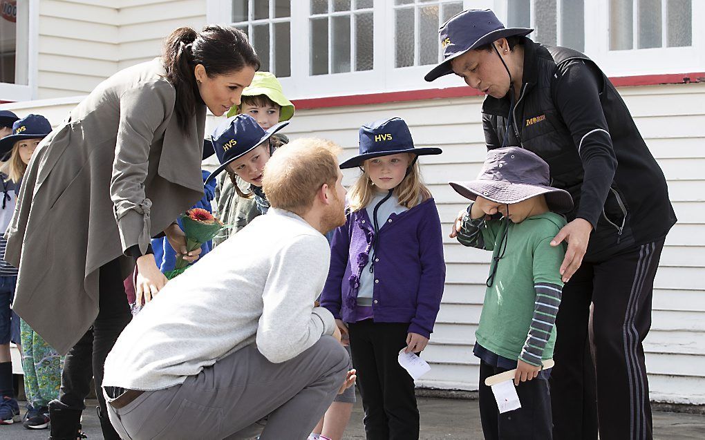
<instances>
[{"instance_id":1,"label":"child in green t-shirt and greyish-purple hat, covering face with hand","mask_svg":"<svg viewBox=\"0 0 705 440\"><path fill-rule=\"evenodd\" d=\"M451 237L492 251L474 346L485 438L551 439L549 370L541 371L541 360L553 356L565 253L551 240L572 199L549 186L548 165L539 156L518 147L489 151L477 180L450 186L473 201ZM522 408L500 414L484 379L514 368Z\"/></svg>"}]
</instances>

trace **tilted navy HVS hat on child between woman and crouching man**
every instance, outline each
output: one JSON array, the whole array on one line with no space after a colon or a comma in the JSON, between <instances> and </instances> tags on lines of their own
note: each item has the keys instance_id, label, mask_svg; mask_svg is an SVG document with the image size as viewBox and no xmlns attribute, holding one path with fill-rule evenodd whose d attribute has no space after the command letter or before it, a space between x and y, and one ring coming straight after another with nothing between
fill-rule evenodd
<instances>
[{"instance_id":1,"label":"tilted navy HVS hat on child between woman and crouching man","mask_svg":"<svg viewBox=\"0 0 705 440\"><path fill-rule=\"evenodd\" d=\"M219 175L229 163L254 150L259 144L269 139L272 134L287 125L289 125L289 121L285 120L272 125L269 130L264 130L250 115L237 115L228 118L216 128L211 136L213 149L221 165L208 176L206 182Z\"/></svg>"}]
</instances>

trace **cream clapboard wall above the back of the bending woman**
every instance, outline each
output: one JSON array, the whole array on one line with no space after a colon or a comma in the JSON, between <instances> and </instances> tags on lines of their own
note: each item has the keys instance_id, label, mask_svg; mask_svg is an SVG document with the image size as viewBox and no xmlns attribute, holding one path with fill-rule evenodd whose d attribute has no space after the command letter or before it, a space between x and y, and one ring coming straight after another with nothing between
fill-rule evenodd
<instances>
[{"instance_id":1,"label":"cream clapboard wall above the back of the bending woman","mask_svg":"<svg viewBox=\"0 0 705 440\"><path fill-rule=\"evenodd\" d=\"M119 69L159 56L177 27L206 24L206 0L37 3L37 99L87 94Z\"/></svg>"}]
</instances>

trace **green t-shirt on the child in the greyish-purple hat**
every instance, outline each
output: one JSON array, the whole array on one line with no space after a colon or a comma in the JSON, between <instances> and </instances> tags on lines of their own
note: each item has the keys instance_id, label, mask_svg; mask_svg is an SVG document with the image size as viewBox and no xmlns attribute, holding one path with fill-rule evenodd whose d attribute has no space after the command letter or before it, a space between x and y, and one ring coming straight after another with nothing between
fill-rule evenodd
<instances>
[{"instance_id":1,"label":"green t-shirt on the child in the greyish-purple hat","mask_svg":"<svg viewBox=\"0 0 705 440\"><path fill-rule=\"evenodd\" d=\"M481 227L485 249L493 251L493 258L501 253L499 242L505 225L507 222L503 220L489 220ZM543 282L563 287L558 270L565 247L551 246L551 239L563 226L565 218L551 212L534 215L521 223L509 222L506 251L499 260L492 287L485 292L475 332L477 342L484 348L504 358L519 358L534 315L534 284ZM553 327L544 349L544 360L553 357L555 342L556 327Z\"/></svg>"}]
</instances>

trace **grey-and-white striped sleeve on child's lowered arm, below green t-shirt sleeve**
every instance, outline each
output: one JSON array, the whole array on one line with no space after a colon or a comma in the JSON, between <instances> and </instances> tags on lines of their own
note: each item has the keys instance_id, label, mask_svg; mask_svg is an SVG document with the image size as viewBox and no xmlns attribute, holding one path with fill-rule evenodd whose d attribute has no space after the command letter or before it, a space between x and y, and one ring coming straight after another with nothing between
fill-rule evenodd
<instances>
[{"instance_id":1,"label":"grey-and-white striped sleeve on child's lowered arm, below green t-shirt sleeve","mask_svg":"<svg viewBox=\"0 0 705 440\"><path fill-rule=\"evenodd\" d=\"M536 291L534 316L519 359L538 367L541 365L541 358L544 355L548 338L551 337L553 325L556 324L563 287L558 284L541 282L534 284L534 290Z\"/></svg>"}]
</instances>

